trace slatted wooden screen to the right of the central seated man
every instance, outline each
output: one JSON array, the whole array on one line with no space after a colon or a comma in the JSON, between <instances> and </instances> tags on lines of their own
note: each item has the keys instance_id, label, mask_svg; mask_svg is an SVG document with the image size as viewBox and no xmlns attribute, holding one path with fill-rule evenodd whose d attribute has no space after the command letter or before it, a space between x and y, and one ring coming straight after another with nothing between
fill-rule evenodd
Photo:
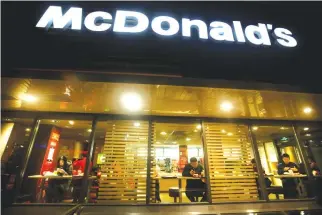
<instances>
[{"instance_id":1,"label":"slatted wooden screen to the right of the central seated man","mask_svg":"<svg viewBox=\"0 0 322 215\"><path fill-rule=\"evenodd\" d=\"M212 202L258 200L247 127L204 123Z\"/></svg>"}]
</instances>

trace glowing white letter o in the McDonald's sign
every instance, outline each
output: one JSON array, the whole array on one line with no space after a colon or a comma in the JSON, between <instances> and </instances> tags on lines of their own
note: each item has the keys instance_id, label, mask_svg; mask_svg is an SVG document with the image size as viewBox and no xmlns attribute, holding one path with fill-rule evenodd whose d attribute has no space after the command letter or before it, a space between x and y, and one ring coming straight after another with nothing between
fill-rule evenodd
<instances>
[{"instance_id":1,"label":"glowing white letter o in the McDonald's sign","mask_svg":"<svg viewBox=\"0 0 322 215\"><path fill-rule=\"evenodd\" d=\"M169 28L164 30L162 28L162 23L167 22L169 24ZM158 16L152 20L151 23L152 30L163 36L171 36L179 32L180 26L179 22L172 17L169 16Z\"/></svg>"}]
</instances>

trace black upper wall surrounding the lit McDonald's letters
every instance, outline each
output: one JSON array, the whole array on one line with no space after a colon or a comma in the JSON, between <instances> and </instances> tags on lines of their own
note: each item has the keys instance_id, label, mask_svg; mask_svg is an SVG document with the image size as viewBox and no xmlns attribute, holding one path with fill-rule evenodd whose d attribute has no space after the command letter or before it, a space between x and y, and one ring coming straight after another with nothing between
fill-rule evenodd
<instances>
[{"instance_id":1,"label":"black upper wall surrounding the lit McDonald's letters","mask_svg":"<svg viewBox=\"0 0 322 215\"><path fill-rule=\"evenodd\" d=\"M322 2L1 2L2 76L14 68L145 71L184 77L259 81L322 93ZM211 21L273 24L292 31L295 48L202 41L193 34L160 37L149 30L119 35L37 29L49 5L97 10L136 10ZM273 40L272 40L273 41Z\"/></svg>"}]
</instances>

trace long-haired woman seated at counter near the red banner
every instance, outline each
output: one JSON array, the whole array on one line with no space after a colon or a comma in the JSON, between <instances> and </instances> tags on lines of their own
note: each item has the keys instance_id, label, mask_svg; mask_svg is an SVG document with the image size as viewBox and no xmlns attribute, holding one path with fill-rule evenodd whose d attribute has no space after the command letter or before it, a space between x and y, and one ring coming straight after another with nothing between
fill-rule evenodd
<instances>
[{"instance_id":1,"label":"long-haired woman seated at counter near the red banner","mask_svg":"<svg viewBox=\"0 0 322 215\"><path fill-rule=\"evenodd\" d=\"M70 175L67 158L61 156L57 161L57 175ZM68 190L68 179L50 179L46 189L46 202L59 203L64 200L64 193Z\"/></svg>"}]
</instances>

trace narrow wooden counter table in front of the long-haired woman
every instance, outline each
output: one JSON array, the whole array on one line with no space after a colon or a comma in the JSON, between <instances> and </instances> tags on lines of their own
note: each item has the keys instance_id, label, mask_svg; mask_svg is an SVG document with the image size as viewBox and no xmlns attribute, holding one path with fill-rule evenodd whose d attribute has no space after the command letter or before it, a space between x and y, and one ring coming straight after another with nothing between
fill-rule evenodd
<instances>
[{"instance_id":1,"label":"narrow wooden counter table in front of the long-haired woman","mask_svg":"<svg viewBox=\"0 0 322 215\"><path fill-rule=\"evenodd\" d=\"M37 195L37 202L43 201L42 198L42 193L43 193L43 188L45 181L44 179L55 179L55 180L77 180L77 179L82 179L84 176L83 175L64 175L64 176L58 176L58 175L30 175L28 176L29 179L41 179L41 184L40 184L40 194ZM88 177L89 180L96 179L96 176L90 176Z\"/></svg>"}]
</instances>

